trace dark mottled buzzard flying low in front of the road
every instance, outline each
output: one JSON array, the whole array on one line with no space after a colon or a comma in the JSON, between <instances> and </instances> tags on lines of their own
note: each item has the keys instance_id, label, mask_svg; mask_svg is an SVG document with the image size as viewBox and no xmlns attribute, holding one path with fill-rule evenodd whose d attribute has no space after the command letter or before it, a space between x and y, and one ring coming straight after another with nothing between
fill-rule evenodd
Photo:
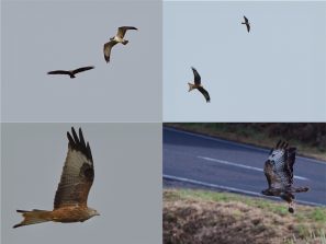
<instances>
[{"instance_id":1,"label":"dark mottled buzzard flying low in front of the road","mask_svg":"<svg viewBox=\"0 0 326 244\"><path fill-rule=\"evenodd\" d=\"M268 188L261 191L266 196L278 196L288 201L291 213L294 212L294 193L308 190L308 187L292 186L295 151L295 148L289 148L289 143L281 140L271 149L263 169Z\"/></svg>"}]
</instances>

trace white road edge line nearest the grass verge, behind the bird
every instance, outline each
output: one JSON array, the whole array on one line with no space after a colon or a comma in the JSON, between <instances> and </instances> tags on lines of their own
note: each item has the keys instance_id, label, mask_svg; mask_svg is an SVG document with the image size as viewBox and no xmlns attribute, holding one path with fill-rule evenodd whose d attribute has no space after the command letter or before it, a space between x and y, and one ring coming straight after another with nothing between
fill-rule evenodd
<instances>
[{"instance_id":1,"label":"white road edge line nearest the grass verge, behind the bird","mask_svg":"<svg viewBox=\"0 0 326 244\"><path fill-rule=\"evenodd\" d=\"M265 195L262 195L260 193L238 189L238 188L228 187L228 186L216 185L216 184L212 184L212 183L200 182L200 181L195 181L195 179L191 179L191 178L178 177L178 176L166 175L166 174L164 174L162 177L166 178L166 179L172 179L172 181L177 181L177 182L190 183L190 184L211 187L211 188L215 188L215 189L224 189L224 190L228 190L228 191L233 191L233 193L246 194L246 195L251 195L251 196L257 196L257 197L273 198L273 199L279 200L278 197L267 197L267 196L265 196ZM325 207L325 205L313 202L313 201L295 200L295 202L302 204L302 205Z\"/></svg>"}]
</instances>

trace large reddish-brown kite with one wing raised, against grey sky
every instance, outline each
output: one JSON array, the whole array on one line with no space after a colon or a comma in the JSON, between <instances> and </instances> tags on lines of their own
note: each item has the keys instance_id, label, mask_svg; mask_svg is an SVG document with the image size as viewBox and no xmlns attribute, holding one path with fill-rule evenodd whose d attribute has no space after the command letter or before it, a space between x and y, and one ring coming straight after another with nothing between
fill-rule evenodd
<instances>
[{"instance_id":1,"label":"large reddish-brown kite with one wing raised, against grey sky","mask_svg":"<svg viewBox=\"0 0 326 244\"><path fill-rule=\"evenodd\" d=\"M94 179L91 149L89 143L85 142L80 128L79 138L74 128L71 128L71 132L72 136L67 132L69 140L68 153L56 191L54 210L16 210L22 213L24 220L13 228L47 221L63 223L83 222L94 216L99 216L97 210L87 207L88 194Z\"/></svg>"}]
</instances>

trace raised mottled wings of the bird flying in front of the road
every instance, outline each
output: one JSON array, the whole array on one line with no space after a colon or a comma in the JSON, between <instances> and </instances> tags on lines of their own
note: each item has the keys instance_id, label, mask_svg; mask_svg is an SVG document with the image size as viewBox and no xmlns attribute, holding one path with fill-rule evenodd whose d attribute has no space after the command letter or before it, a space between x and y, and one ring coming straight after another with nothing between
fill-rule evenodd
<instances>
[{"instance_id":1,"label":"raised mottled wings of the bird flying in front of the road","mask_svg":"<svg viewBox=\"0 0 326 244\"><path fill-rule=\"evenodd\" d=\"M295 148L288 146L286 142L279 141L265 163L263 172L269 187L289 189L293 184Z\"/></svg>"}]
</instances>

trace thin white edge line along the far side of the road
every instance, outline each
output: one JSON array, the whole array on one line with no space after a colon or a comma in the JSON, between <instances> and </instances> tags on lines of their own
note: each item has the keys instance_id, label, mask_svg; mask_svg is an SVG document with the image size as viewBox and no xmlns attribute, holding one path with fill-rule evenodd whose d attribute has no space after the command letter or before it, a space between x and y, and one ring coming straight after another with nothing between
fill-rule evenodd
<instances>
[{"instance_id":1,"label":"thin white edge line along the far side of the road","mask_svg":"<svg viewBox=\"0 0 326 244\"><path fill-rule=\"evenodd\" d=\"M195 132L189 132L189 131L184 131L184 130L175 129L175 128L171 128L171 127L164 126L164 129L170 130L170 131L173 131L173 132L189 135L189 136L192 136L192 137L203 138L203 139L206 139L206 140L218 141L218 142L223 142L223 143L232 144L232 146L236 146L236 147L263 151L263 152L267 152L267 153L270 151L270 149L263 149L263 148L259 148L259 147L255 147L255 146L250 146L250 144L244 144L244 143L240 143L240 142L228 141L228 140L224 140L224 139L220 139L220 138L215 138L215 137L210 137L210 136L200 135L200 133L195 133ZM296 155L296 158L297 159L308 160L308 161L314 162L314 163L319 163L319 164L326 165L325 161L322 161L322 160L310 159L310 158L305 158L305 156L301 156L301 155Z\"/></svg>"}]
</instances>

